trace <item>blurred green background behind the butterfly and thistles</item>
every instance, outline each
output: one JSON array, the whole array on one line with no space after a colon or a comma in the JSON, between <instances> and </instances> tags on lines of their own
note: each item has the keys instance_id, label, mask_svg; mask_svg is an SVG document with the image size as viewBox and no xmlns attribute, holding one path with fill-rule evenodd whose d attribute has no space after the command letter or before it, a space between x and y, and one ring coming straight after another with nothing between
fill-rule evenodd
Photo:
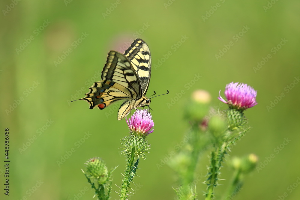
<instances>
[{"instance_id":1,"label":"blurred green background behind the butterfly and thistles","mask_svg":"<svg viewBox=\"0 0 300 200\"><path fill-rule=\"evenodd\" d=\"M153 90L170 94L152 101L152 147L140 162L131 199L175 198L174 172L157 164L189 128L184 107L197 89L208 91L212 106L218 106L219 90L232 81L253 86L258 105L246 111L253 129L230 155L254 153L259 165L266 164L245 176L235 199L300 196L299 1L4 0L0 5L1 130L10 130L10 193L3 194L2 163L0 199L91 199L81 169L95 156L109 168L119 165L113 175L113 190L119 191L125 166L120 139L128 127L116 119L118 105L89 110L84 101L70 100L83 97L100 80L109 50L124 51L137 37L152 55L148 96ZM193 82L195 76L201 78ZM175 98L181 90L185 94ZM4 160L4 137L0 140ZM266 161L270 154L274 158ZM204 199L206 165L203 154L198 199ZM226 165L222 172L226 181L217 187L216 199L232 175ZM118 194L113 192L112 199Z\"/></svg>"}]
</instances>

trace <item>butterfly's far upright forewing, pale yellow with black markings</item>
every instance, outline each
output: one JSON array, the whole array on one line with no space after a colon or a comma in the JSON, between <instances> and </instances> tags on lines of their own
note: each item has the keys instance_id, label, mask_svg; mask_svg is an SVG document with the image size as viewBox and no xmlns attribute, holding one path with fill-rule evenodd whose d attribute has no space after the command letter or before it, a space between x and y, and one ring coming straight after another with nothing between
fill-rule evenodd
<instances>
[{"instance_id":1,"label":"butterfly's far upright forewing, pale yellow with black markings","mask_svg":"<svg viewBox=\"0 0 300 200\"><path fill-rule=\"evenodd\" d=\"M131 61L139 78L142 94L145 95L151 77L151 54L148 45L143 40L136 39L124 55Z\"/></svg>"}]
</instances>

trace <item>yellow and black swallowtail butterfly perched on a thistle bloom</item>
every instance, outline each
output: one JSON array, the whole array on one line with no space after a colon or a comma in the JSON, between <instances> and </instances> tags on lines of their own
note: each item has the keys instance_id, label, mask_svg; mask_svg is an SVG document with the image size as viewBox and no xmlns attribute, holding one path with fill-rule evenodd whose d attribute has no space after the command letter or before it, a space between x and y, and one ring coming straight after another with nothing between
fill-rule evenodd
<instances>
[{"instance_id":1,"label":"yellow and black swallowtail butterfly perched on a thistle bloom","mask_svg":"<svg viewBox=\"0 0 300 200\"><path fill-rule=\"evenodd\" d=\"M132 109L149 106L151 100L145 95L151 77L151 54L148 45L141 39L133 41L124 54L108 52L101 74L85 97L90 109L105 109L112 103L124 101L118 112L122 120Z\"/></svg>"}]
</instances>

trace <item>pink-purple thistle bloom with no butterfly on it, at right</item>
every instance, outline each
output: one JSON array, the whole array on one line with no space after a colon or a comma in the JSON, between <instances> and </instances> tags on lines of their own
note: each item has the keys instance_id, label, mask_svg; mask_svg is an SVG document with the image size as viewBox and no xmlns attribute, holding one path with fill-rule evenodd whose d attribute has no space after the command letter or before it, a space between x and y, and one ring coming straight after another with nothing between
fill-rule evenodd
<instances>
[{"instance_id":1,"label":"pink-purple thistle bloom with no butterfly on it, at right","mask_svg":"<svg viewBox=\"0 0 300 200\"><path fill-rule=\"evenodd\" d=\"M224 103L227 103L229 106L233 106L237 109L247 109L257 104L257 91L255 91L251 86L248 86L244 83L231 82L226 85L224 94L227 101L225 101L221 97L220 92L221 90L219 91L218 99Z\"/></svg>"}]
</instances>

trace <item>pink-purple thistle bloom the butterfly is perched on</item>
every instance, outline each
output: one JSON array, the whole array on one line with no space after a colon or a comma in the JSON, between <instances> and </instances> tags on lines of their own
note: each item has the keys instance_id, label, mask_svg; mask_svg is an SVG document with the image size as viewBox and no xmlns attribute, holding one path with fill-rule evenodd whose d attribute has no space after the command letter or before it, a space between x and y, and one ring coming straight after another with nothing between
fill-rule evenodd
<instances>
[{"instance_id":1,"label":"pink-purple thistle bloom the butterfly is perched on","mask_svg":"<svg viewBox=\"0 0 300 200\"><path fill-rule=\"evenodd\" d=\"M152 120L151 113L146 109L138 109L126 122L131 131L140 133L142 135L148 135L153 132L154 122Z\"/></svg>"}]
</instances>

